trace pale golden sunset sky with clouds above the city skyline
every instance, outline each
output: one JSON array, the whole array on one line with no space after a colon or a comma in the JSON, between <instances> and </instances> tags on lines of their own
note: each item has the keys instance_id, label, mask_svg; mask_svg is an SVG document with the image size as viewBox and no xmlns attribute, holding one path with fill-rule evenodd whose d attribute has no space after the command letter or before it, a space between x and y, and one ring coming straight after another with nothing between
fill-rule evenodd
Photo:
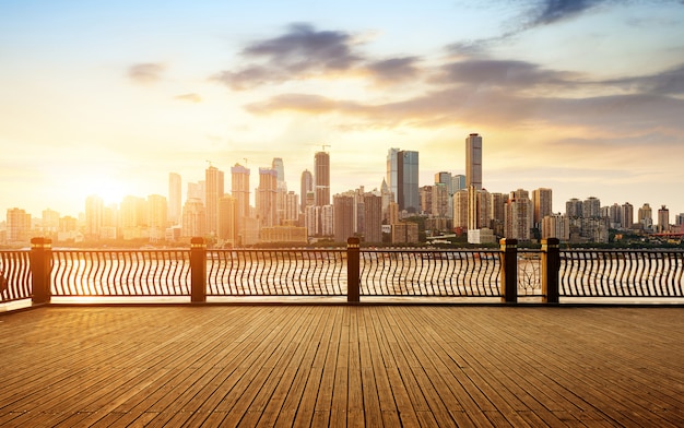
<instances>
[{"instance_id":1,"label":"pale golden sunset sky with clouds above the city skyline","mask_svg":"<svg viewBox=\"0 0 684 428\"><path fill-rule=\"evenodd\" d=\"M0 0L0 94L1 213L274 157L298 193L323 148L332 194L390 147L427 186L473 132L491 192L684 213L682 0Z\"/></svg>"}]
</instances>

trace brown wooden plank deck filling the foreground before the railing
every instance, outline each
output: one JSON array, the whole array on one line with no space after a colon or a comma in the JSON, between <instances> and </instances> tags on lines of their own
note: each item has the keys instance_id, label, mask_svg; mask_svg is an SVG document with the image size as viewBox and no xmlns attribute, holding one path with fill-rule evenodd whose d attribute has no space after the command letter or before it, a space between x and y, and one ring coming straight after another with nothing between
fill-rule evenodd
<instances>
[{"instance_id":1,"label":"brown wooden plank deck filling the foreground before the railing","mask_svg":"<svg viewBox=\"0 0 684 428\"><path fill-rule=\"evenodd\" d=\"M684 425L684 309L59 307L0 316L0 425Z\"/></svg>"}]
</instances>

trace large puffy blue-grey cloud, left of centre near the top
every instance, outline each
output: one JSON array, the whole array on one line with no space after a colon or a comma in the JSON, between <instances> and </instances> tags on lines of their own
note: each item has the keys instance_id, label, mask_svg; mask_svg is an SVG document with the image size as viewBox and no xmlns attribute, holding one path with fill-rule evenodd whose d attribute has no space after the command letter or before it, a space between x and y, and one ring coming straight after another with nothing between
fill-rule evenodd
<instances>
[{"instance_id":1,"label":"large puffy blue-grey cloud, left of centre near the top","mask_svg":"<svg viewBox=\"0 0 684 428\"><path fill-rule=\"evenodd\" d=\"M248 45L241 56L260 61L237 71L222 71L212 79L240 91L262 84L321 76L350 70L362 57L354 54L349 33L317 31L309 24L292 24L281 36Z\"/></svg>"}]
</instances>

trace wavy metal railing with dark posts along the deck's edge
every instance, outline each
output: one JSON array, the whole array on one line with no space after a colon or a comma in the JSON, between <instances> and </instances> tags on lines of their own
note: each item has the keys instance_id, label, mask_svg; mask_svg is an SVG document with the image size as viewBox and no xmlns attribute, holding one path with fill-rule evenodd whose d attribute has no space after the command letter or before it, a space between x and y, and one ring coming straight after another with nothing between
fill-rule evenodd
<instances>
[{"instance_id":1,"label":"wavy metal railing with dark posts along the deck's edge","mask_svg":"<svg viewBox=\"0 0 684 428\"><path fill-rule=\"evenodd\" d=\"M500 249L207 249L52 250L34 238L31 251L0 251L0 302L51 297L304 296L495 298L683 298L684 252Z\"/></svg>"}]
</instances>

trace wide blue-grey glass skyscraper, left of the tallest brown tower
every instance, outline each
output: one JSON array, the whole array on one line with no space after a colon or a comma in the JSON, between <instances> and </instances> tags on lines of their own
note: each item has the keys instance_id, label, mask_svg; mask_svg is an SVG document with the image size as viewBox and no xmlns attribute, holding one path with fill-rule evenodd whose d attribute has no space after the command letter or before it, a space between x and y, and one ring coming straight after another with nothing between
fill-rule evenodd
<instances>
[{"instance_id":1,"label":"wide blue-grey glass skyscraper, left of the tallest brown tower","mask_svg":"<svg viewBox=\"0 0 684 428\"><path fill-rule=\"evenodd\" d=\"M387 155L387 179L399 211L418 213L418 152L390 148Z\"/></svg>"}]
</instances>

